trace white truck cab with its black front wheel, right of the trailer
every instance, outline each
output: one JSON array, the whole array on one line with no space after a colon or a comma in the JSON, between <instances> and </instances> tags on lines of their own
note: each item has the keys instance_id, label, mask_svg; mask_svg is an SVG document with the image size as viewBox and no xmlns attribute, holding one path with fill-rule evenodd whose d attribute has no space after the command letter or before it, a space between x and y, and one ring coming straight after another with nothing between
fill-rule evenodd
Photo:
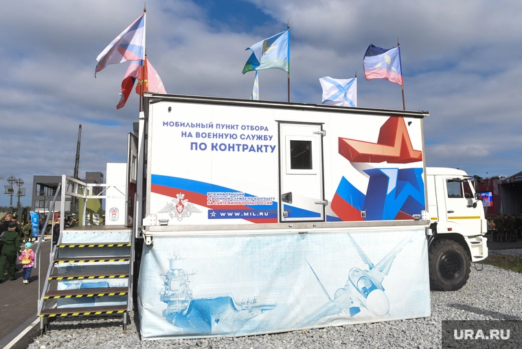
<instances>
[{"instance_id":1,"label":"white truck cab with its black front wheel, right of the trailer","mask_svg":"<svg viewBox=\"0 0 522 349\"><path fill-rule=\"evenodd\" d=\"M488 257L484 207L471 178L455 168L427 168L431 288L460 289L468 280L470 262Z\"/></svg>"}]
</instances>

